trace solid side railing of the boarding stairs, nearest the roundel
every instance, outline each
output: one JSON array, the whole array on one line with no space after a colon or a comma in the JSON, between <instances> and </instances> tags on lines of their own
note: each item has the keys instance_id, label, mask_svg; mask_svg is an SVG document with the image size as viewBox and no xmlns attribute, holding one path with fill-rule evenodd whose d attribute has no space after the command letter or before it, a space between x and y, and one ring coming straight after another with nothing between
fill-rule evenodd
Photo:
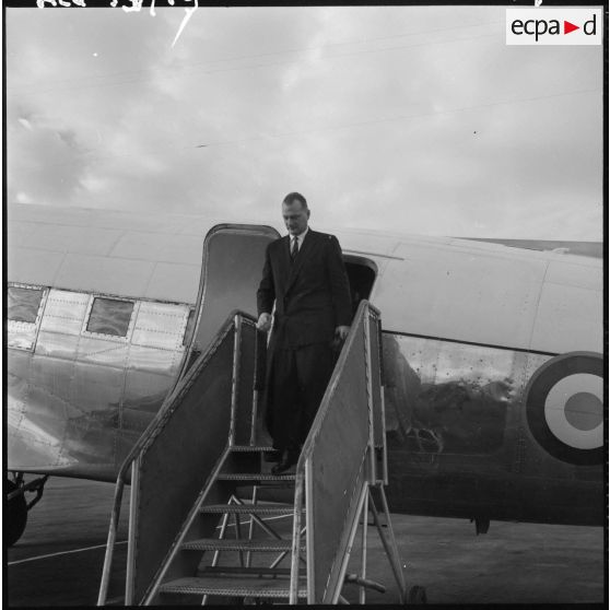
<instances>
[{"instance_id":1,"label":"solid side railing of the boarding stairs, nearest the roundel","mask_svg":"<svg viewBox=\"0 0 610 610\"><path fill-rule=\"evenodd\" d=\"M306 507L307 602L336 603L368 485L385 455L380 318L361 302L296 467L290 603L297 601ZM383 479L386 478L383 460Z\"/></svg>"}]
</instances>

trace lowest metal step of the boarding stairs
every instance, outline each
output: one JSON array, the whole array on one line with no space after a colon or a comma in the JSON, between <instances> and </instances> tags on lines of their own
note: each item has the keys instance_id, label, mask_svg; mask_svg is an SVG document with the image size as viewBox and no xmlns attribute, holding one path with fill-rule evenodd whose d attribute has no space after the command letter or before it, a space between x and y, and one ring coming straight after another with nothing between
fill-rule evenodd
<instances>
[{"instance_id":1,"label":"lowest metal step of the boarding stairs","mask_svg":"<svg viewBox=\"0 0 610 610\"><path fill-rule=\"evenodd\" d=\"M259 578L257 576L215 576L213 578L177 578L161 586L162 594L218 595L230 597L288 598L290 579ZM305 580L298 584L297 596L307 597Z\"/></svg>"}]
</instances>

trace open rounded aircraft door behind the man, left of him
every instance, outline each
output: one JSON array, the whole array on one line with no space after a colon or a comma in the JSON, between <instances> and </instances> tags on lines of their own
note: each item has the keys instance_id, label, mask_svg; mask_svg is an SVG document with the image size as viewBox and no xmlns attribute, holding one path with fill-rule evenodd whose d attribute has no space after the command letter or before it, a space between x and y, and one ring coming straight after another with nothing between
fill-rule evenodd
<instances>
[{"instance_id":1,"label":"open rounded aircraft door behind the man, left of him","mask_svg":"<svg viewBox=\"0 0 610 610\"><path fill-rule=\"evenodd\" d=\"M206 235L192 330L176 383L233 309L256 316L265 250L278 237L273 227L256 224L218 224Z\"/></svg>"}]
</instances>

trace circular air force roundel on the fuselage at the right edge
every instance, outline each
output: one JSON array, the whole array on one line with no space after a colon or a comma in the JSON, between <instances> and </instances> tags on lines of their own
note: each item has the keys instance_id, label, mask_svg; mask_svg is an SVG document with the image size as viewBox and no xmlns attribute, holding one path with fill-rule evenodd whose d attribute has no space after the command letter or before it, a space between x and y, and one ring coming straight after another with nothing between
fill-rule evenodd
<instances>
[{"instance_id":1,"label":"circular air force roundel on the fuselage at the right edge","mask_svg":"<svg viewBox=\"0 0 610 610\"><path fill-rule=\"evenodd\" d=\"M546 362L526 388L529 430L553 457L579 466L603 461L603 360L571 352Z\"/></svg>"}]
</instances>

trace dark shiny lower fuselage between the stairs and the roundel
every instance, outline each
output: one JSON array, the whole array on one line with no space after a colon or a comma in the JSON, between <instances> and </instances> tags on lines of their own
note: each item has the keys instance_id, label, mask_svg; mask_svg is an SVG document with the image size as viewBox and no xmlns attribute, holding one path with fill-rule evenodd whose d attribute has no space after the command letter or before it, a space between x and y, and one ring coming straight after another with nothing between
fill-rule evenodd
<instances>
[{"instance_id":1,"label":"dark shiny lower fuselage between the stairs and the roundel","mask_svg":"<svg viewBox=\"0 0 610 610\"><path fill-rule=\"evenodd\" d=\"M549 455L527 423L527 382L552 355L386 333L384 356L392 511L603 523L601 464Z\"/></svg>"}]
</instances>

